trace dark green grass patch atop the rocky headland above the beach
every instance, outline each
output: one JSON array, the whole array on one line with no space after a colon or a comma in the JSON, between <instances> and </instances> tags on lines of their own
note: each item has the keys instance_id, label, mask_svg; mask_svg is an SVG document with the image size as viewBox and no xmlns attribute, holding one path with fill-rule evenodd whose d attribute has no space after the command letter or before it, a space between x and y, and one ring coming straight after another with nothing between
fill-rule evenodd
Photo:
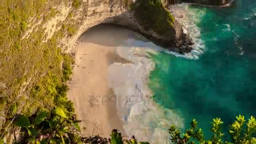
<instances>
[{"instance_id":1,"label":"dark green grass patch atop the rocky headland above the beach","mask_svg":"<svg viewBox=\"0 0 256 144\"><path fill-rule=\"evenodd\" d=\"M152 29L159 35L169 35L173 31L174 17L157 0L136 0L131 5L137 20L146 30Z\"/></svg>"}]
</instances>

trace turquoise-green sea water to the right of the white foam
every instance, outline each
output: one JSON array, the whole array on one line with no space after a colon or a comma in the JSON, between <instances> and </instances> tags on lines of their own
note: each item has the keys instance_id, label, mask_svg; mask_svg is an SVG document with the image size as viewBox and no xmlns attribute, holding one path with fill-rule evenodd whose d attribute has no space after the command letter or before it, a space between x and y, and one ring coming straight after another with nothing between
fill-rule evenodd
<instances>
[{"instance_id":1,"label":"turquoise-green sea water to the right of the white foam","mask_svg":"<svg viewBox=\"0 0 256 144\"><path fill-rule=\"evenodd\" d=\"M185 128L195 118L209 138L215 117L222 118L226 131L235 116L256 115L256 1L189 11L200 17L204 53L197 60L156 55L149 87L157 103L184 117Z\"/></svg>"}]
</instances>

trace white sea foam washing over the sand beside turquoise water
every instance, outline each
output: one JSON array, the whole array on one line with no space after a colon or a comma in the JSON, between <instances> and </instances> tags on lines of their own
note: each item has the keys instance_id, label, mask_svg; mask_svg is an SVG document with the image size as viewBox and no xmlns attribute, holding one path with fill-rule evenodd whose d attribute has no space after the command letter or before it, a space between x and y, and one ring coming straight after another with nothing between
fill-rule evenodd
<instances>
[{"instance_id":1,"label":"white sea foam washing over the sand beside turquoise water","mask_svg":"<svg viewBox=\"0 0 256 144\"><path fill-rule=\"evenodd\" d=\"M117 96L116 106L127 136L152 144L169 144L168 127L184 127L183 118L165 109L151 98L147 86L155 62L150 55L165 51L152 42L129 39L116 48L116 53L131 64L113 63L108 69L109 87Z\"/></svg>"}]
</instances>

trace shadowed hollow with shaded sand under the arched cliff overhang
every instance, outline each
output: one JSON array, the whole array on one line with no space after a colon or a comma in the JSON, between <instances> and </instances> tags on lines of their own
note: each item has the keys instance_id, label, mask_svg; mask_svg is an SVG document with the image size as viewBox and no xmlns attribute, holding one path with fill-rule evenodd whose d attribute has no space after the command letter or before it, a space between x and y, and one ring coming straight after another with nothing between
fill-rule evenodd
<instances>
[{"instance_id":1,"label":"shadowed hollow with shaded sand under the arched cliff overhang","mask_svg":"<svg viewBox=\"0 0 256 144\"><path fill-rule=\"evenodd\" d=\"M129 11L124 11L120 15L112 16L102 20L99 24L87 29L78 38L80 42L94 43L107 47L128 46L128 47L149 47L156 46L175 51L175 43L163 43L155 39L152 35L141 33L140 26L134 22L135 18ZM142 43L147 43L143 45ZM167 46L168 45L168 46Z\"/></svg>"}]
</instances>

